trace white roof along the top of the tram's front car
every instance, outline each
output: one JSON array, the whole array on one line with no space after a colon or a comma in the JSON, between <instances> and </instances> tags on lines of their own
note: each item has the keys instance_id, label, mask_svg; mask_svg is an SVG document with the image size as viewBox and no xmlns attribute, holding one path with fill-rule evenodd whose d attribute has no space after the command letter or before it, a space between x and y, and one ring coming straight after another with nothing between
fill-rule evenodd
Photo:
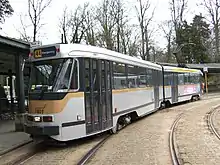
<instances>
[{"instance_id":1,"label":"white roof along the top of the tram's front car","mask_svg":"<svg viewBox=\"0 0 220 165\"><path fill-rule=\"evenodd\" d=\"M142 67L150 67L154 69L161 70L162 67L158 64L145 61L142 59L138 59L137 57L132 57L129 55L125 55L122 53L118 53L112 50L108 50L106 48L101 48L97 46L91 46L91 45L83 45L83 44L50 44L50 45L44 45L39 47L34 47L33 49L40 49L40 48L46 48L50 46L56 46L60 49L60 56L58 57L89 57L89 58L96 58L96 59L105 59L105 60L111 60L115 62L121 62L126 63L130 65L137 65ZM56 58L56 57L53 57ZM33 59L33 58L32 58ZM44 58L45 60L48 58ZM50 59L50 58L49 58ZM36 60L38 61L38 60Z\"/></svg>"}]
</instances>

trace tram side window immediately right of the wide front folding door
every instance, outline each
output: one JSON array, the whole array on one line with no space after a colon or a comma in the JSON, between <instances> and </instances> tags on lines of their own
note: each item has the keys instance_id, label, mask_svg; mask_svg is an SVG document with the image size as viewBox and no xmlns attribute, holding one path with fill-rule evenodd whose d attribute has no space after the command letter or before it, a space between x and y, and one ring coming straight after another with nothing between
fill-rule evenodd
<instances>
[{"instance_id":1,"label":"tram side window immediately right of the wide front folding door","mask_svg":"<svg viewBox=\"0 0 220 165\"><path fill-rule=\"evenodd\" d=\"M125 64L113 63L114 89L127 88Z\"/></svg>"}]
</instances>

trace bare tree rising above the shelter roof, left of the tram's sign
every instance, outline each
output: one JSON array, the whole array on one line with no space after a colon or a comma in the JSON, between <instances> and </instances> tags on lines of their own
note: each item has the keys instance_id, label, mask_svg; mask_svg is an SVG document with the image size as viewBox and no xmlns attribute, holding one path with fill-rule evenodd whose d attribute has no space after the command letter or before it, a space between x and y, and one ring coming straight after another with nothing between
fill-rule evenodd
<instances>
[{"instance_id":1,"label":"bare tree rising above the shelter roof, left of the tram's sign","mask_svg":"<svg viewBox=\"0 0 220 165\"><path fill-rule=\"evenodd\" d=\"M28 14L33 25L33 42L36 41L41 24L42 13L51 4L52 0L28 0Z\"/></svg>"}]
</instances>

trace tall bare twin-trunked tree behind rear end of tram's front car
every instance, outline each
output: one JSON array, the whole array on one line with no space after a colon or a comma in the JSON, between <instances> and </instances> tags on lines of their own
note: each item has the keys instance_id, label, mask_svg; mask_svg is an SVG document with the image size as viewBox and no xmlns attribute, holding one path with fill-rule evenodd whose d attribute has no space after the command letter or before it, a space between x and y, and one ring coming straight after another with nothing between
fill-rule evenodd
<instances>
[{"instance_id":1,"label":"tall bare twin-trunked tree behind rear end of tram's front car","mask_svg":"<svg viewBox=\"0 0 220 165\"><path fill-rule=\"evenodd\" d=\"M150 22L153 19L154 16L154 11L151 13L150 17L147 17L147 11L150 9L151 4L150 1L147 0L145 3L142 2L142 0L137 0L138 1L138 6L135 6L136 12L137 12L137 18L141 30L141 42L142 42L142 59L144 60L150 60L150 55L149 55L149 25ZM145 42L146 42L146 52L145 52Z\"/></svg>"}]
</instances>

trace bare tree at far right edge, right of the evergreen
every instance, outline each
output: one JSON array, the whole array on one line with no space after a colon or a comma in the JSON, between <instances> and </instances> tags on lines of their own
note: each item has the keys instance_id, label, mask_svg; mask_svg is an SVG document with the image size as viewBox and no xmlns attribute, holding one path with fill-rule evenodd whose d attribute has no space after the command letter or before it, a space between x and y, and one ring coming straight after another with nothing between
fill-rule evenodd
<instances>
[{"instance_id":1,"label":"bare tree at far right edge, right of the evergreen","mask_svg":"<svg viewBox=\"0 0 220 165\"><path fill-rule=\"evenodd\" d=\"M214 27L214 41L215 41L215 61L220 61L220 50L219 50L219 26L220 26L220 2L219 0L202 0L202 6L207 10L211 23Z\"/></svg>"}]
</instances>

